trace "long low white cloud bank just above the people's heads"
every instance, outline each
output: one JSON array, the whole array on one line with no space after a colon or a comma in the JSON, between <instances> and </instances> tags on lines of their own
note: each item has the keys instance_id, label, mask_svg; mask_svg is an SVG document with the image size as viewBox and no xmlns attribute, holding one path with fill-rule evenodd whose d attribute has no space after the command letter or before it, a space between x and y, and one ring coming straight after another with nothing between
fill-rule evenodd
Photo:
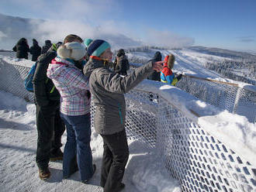
<instances>
[{"instance_id":1,"label":"long low white cloud bank just above the people's heads","mask_svg":"<svg viewBox=\"0 0 256 192\"><path fill-rule=\"evenodd\" d=\"M45 39L62 41L64 36L73 33L81 36L81 38L106 39L115 48L142 45L182 48L184 46L191 46L194 43L192 38L154 29L145 30L140 40L138 36L137 38L130 38L130 34L133 34L134 37L133 31L128 26L120 25L114 21L107 21L99 26L71 20L33 21L32 24L34 26L33 35L38 36L41 42Z\"/></svg>"}]
</instances>

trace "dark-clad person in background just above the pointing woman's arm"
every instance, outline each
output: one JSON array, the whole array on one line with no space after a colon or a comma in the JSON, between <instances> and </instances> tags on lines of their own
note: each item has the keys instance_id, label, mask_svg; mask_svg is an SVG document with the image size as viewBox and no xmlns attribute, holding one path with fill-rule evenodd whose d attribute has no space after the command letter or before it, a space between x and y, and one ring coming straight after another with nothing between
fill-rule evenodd
<instances>
[{"instance_id":1,"label":"dark-clad person in background just above the pointing woman's arm","mask_svg":"<svg viewBox=\"0 0 256 192\"><path fill-rule=\"evenodd\" d=\"M122 57L122 59L121 59ZM127 70L130 69L129 61L123 49L120 49L116 54L114 62L115 72L120 75L127 75Z\"/></svg>"}]
</instances>

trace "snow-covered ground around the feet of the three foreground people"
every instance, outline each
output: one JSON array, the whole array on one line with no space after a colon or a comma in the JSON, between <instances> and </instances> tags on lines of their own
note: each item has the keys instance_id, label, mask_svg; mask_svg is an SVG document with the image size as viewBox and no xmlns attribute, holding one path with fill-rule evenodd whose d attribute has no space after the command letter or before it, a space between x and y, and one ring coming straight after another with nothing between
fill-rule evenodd
<instances>
[{"instance_id":1,"label":"snow-covered ground around the feet of the three foreground people","mask_svg":"<svg viewBox=\"0 0 256 192\"><path fill-rule=\"evenodd\" d=\"M97 166L89 184L79 182L78 172L62 179L62 163L50 162L52 177L43 181L36 166L36 109L21 98L0 91L0 191L102 191L99 187L102 139L92 130L92 155ZM66 132L62 143L66 142ZM157 152L137 140L129 141L130 159L123 182L132 192L179 192L177 180L171 179L159 161Z\"/></svg>"}]
</instances>

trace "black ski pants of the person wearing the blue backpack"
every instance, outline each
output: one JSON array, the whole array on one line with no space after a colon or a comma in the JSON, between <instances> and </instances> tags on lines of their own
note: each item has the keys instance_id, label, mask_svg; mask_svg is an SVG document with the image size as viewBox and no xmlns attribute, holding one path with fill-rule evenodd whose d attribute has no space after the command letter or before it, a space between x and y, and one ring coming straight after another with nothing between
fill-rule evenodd
<instances>
[{"instance_id":1,"label":"black ski pants of the person wearing the blue backpack","mask_svg":"<svg viewBox=\"0 0 256 192\"><path fill-rule=\"evenodd\" d=\"M50 105L36 105L36 127L38 133L36 163L40 169L46 169L50 154L60 150L61 135L65 131L60 117L60 102L50 101Z\"/></svg>"}]
</instances>

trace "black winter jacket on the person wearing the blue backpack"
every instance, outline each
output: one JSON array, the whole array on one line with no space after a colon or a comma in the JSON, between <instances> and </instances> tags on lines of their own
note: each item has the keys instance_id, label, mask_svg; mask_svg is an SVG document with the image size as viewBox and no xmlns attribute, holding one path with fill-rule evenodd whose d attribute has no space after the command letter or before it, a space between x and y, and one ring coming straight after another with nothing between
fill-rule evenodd
<instances>
[{"instance_id":1,"label":"black winter jacket on the person wearing the blue backpack","mask_svg":"<svg viewBox=\"0 0 256 192\"><path fill-rule=\"evenodd\" d=\"M47 53L38 57L36 71L33 77L33 88L36 105L47 106L50 101L60 101L61 95L54 87L53 81L47 77L47 68L51 60L57 57L55 50L48 50Z\"/></svg>"}]
</instances>

